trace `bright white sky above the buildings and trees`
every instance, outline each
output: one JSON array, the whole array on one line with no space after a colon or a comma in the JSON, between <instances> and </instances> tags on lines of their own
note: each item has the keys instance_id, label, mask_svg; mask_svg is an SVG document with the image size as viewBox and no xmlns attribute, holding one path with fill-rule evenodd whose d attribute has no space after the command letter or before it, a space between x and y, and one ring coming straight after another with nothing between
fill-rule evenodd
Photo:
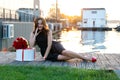
<instances>
[{"instance_id":1,"label":"bright white sky above the buildings and trees","mask_svg":"<svg viewBox=\"0 0 120 80\"><path fill-rule=\"evenodd\" d=\"M40 0L44 15L56 0ZM0 0L0 7L16 10L33 8L33 0ZM58 7L66 15L81 15L82 8L105 8L109 20L120 20L119 0L58 0Z\"/></svg>"}]
</instances>

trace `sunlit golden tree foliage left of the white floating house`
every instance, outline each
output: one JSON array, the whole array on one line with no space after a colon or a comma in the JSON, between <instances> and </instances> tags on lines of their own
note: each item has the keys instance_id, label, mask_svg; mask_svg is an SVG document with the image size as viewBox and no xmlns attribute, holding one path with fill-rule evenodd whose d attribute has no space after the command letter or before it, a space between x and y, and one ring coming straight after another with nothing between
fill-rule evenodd
<instances>
[{"instance_id":1,"label":"sunlit golden tree foliage left of the white floating house","mask_svg":"<svg viewBox=\"0 0 120 80\"><path fill-rule=\"evenodd\" d=\"M68 16L64 13L61 13L60 8L57 7L56 9L56 5L53 4L48 12L47 20L51 20L52 22L55 22L56 19L57 21L60 21L60 19L68 19L71 25L76 25L77 22L81 21L81 16Z\"/></svg>"}]
</instances>

